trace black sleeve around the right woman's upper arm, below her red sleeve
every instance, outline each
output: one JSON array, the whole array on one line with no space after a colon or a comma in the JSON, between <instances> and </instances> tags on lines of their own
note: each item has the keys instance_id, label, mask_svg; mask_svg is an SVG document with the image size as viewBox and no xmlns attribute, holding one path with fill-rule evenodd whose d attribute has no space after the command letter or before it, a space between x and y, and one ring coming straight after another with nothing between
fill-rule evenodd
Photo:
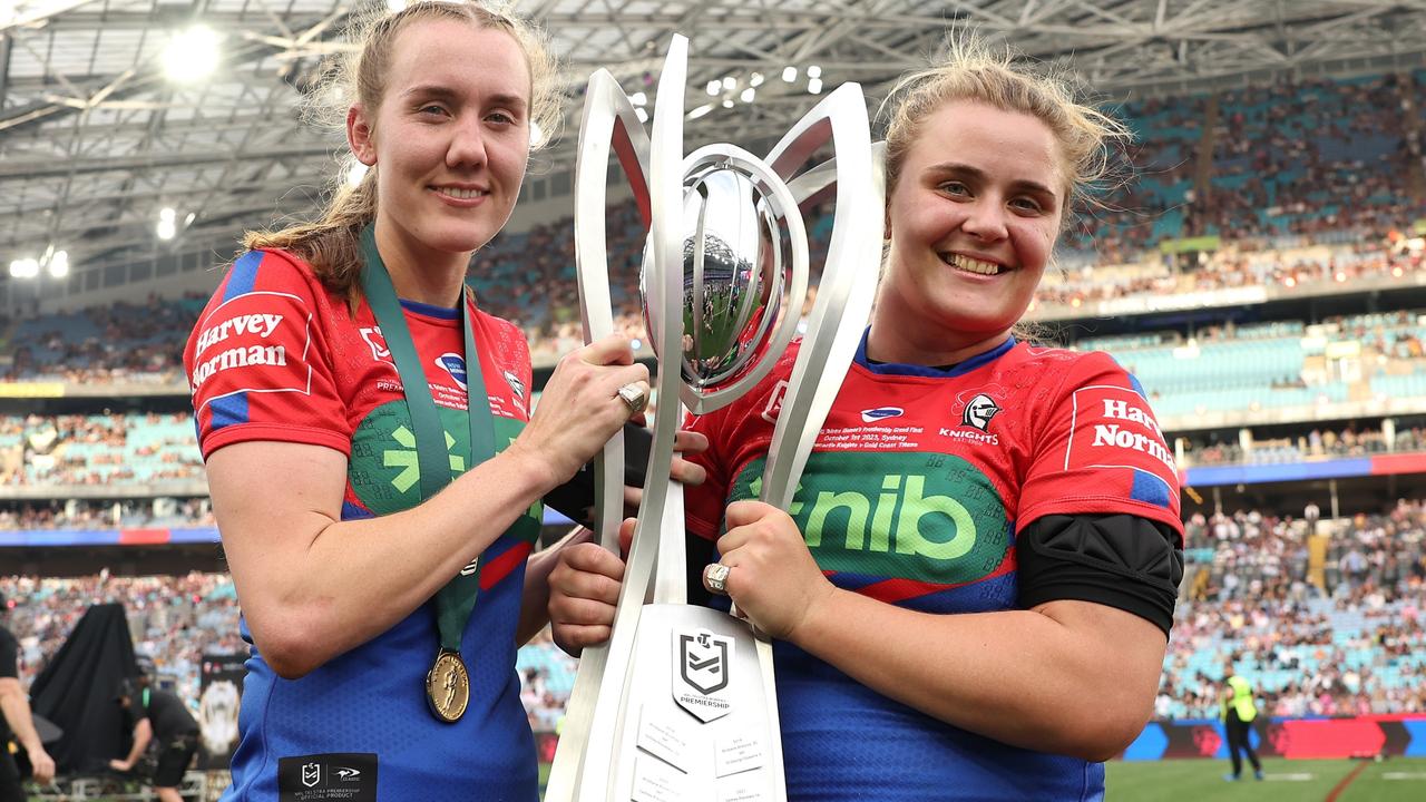
<instances>
[{"instance_id":1,"label":"black sleeve around the right woman's upper arm, below her red sleeve","mask_svg":"<svg viewBox=\"0 0 1426 802\"><path fill-rule=\"evenodd\" d=\"M1166 524L1137 515L1045 515L1015 542L1020 605L1075 599L1154 622L1166 635L1184 578L1184 547Z\"/></svg>"}]
</instances>

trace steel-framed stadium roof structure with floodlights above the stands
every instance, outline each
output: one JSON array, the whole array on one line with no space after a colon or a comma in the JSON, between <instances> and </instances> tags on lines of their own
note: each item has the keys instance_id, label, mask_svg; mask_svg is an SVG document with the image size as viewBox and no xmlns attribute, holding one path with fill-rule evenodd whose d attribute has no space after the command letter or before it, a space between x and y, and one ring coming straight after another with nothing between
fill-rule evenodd
<instances>
[{"instance_id":1,"label":"steel-framed stadium roof structure with floodlights above the stands","mask_svg":"<svg viewBox=\"0 0 1426 802\"><path fill-rule=\"evenodd\" d=\"M0 0L0 265L63 248L66 281L78 287L80 274L107 265L231 253L235 231L311 210L341 143L304 126L298 101L324 60L348 47L351 16L386 1ZM563 136L542 157L555 194L568 191L589 73L606 67L652 104L674 31L692 40L690 147L776 138L813 104L813 77L823 91L861 81L878 97L924 66L953 26L1064 60L1111 98L1393 71L1419 66L1426 50L1426 0L515 6L548 29L570 96ZM217 70L175 83L164 51L193 24L217 34ZM161 208L175 210L171 240L155 237ZM0 294L13 281L0 268Z\"/></svg>"}]
</instances>

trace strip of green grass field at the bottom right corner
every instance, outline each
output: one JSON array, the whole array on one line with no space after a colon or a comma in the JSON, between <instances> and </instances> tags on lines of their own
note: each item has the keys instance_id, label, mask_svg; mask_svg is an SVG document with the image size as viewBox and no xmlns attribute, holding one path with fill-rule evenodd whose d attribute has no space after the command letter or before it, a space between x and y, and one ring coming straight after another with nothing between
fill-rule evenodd
<instances>
[{"instance_id":1,"label":"strip of green grass field at the bottom right corner","mask_svg":"<svg viewBox=\"0 0 1426 802\"><path fill-rule=\"evenodd\" d=\"M1228 761L1111 762L1108 802L1323 802L1362 761L1263 759L1263 782L1251 775L1225 782ZM1246 775L1245 769L1245 775ZM1336 802L1420 802L1426 799L1426 758L1368 762Z\"/></svg>"}]
</instances>

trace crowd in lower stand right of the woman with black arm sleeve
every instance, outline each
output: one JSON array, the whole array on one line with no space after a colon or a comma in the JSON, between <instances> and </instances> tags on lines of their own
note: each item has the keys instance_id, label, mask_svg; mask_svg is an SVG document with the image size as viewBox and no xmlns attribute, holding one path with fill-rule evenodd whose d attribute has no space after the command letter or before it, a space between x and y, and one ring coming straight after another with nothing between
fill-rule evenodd
<instances>
[{"instance_id":1,"label":"crowd in lower stand right of the woman with black arm sleeve","mask_svg":"<svg viewBox=\"0 0 1426 802\"><path fill-rule=\"evenodd\" d=\"M1325 538L1316 558L1312 531ZM1272 715L1426 709L1422 501L1336 522L1199 514L1185 545L1159 716L1215 718L1229 658Z\"/></svg>"}]
</instances>

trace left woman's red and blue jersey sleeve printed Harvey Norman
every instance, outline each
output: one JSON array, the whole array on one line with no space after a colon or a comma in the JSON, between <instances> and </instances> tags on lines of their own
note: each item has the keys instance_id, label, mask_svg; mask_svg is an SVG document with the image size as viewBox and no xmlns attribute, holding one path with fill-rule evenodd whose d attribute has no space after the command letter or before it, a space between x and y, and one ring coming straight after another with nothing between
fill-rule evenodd
<instances>
[{"instance_id":1,"label":"left woman's red and blue jersey sleeve printed Harvey Norman","mask_svg":"<svg viewBox=\"0 0 1426 802\"><path fill-rule=\"evenodd\" d=\"M285 254L240 257L184 350L198 445L282 441L351 451L317 287Z\"/></svg>"}]
</instances>

